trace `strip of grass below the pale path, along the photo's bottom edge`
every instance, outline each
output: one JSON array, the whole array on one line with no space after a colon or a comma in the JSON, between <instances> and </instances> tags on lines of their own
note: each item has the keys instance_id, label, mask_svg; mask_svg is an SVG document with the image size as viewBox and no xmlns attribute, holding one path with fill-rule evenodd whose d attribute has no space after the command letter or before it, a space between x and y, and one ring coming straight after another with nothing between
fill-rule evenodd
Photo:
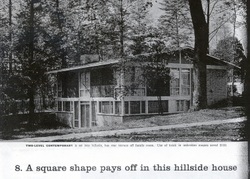
<instances>
[{"instance_id":1,"label":"strip of grass below the pale path, along the photo's bottom edge","mask_svg":"<svg viewBox=\"0 0 250 179\"><path fill-rule=\"evenodd\" d=\"M86 137L81 139L56 140L61 142L216 142L244 141L244 123L230 123L197 126L169 130L159 130L106 137Z\"/></svg>"}]
</instances>

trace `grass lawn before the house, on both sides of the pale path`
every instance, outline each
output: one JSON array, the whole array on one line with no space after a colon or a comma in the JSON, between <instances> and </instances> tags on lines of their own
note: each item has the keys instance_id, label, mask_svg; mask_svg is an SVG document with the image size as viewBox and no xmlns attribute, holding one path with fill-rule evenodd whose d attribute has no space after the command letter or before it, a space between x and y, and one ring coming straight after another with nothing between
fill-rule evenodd
<instances>
[{"instance_id":1,"label":"grass lawn before the house, on both sides of the pale path","mask_svg":"<svg viewBox=\"0 0 250 179\"><path fill-rule=\"evenodd\" d=\"M73 129L59 127L57 129L38 129L28 131L21 128L10 128L9 130L1 130L0 138L4 140L11 139L21 139L21 138L31 138L31 137L46 137L46 136L56 136L65 135L72 133L85 133L85 132L95 132L95 131L109 131L116 129L129 129L129 128L143 128L143 127L153 127L153 126L164 126L171 124L181 124L181 123L194 123L194 122L205 122L214 120L223 120L244 116L242 107L227 107L221 109L205 109L196 112L172 114L172 115L158 115L152 116L144 119L130 119L124 123L116 126L106 126L106 127L94 127L91 129ZM157 132L147 132L147 133L136 133L132 135L124 136L114 136L113 138L94 138L82 139L83 141L186 141L191 139L195 140L209 140L212 134L217 134L222 136L218 137L219 140L223 140L223 135L225 140L231 140L237 138L233 136L238 135L238 128L242 128L243 124L224 124L218 126L202 126L202 127L190 127L185 129L171 129L167 131L157 131ZM4 129L4 128L3 128ZM215 133L215 129L220 129L220 134ZM230 133L230 129L232 129ZM223 134L223 135L222 135ZM228 139L226 138L228 136ZM215 139L214 139L215 140ZM238 138L237 138L238 140ZM241 140L241 138L239 139ZM72 139L72 141L75 141ZM80 140L81 141L81 140Z\"/></svg>"}]
</instances>

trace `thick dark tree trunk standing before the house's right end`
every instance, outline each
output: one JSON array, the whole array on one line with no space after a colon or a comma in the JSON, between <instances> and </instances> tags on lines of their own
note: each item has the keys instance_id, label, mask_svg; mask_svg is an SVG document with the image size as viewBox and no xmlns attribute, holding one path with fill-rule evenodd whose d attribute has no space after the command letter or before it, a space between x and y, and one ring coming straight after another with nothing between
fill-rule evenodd
<instances>
[{"instance_id":1,"label":"thick dark tree trunk standing before the house's right end","mask_svg":"<svg viewBox=\"0 0 250 179\"><path fill-rule=\"evenodd\" d=\"M189 0L189 6L195 35L193 110L200 110L207 107L206 58L208 50L208 26L201 0Z\"/></svg>"}]
</instances>

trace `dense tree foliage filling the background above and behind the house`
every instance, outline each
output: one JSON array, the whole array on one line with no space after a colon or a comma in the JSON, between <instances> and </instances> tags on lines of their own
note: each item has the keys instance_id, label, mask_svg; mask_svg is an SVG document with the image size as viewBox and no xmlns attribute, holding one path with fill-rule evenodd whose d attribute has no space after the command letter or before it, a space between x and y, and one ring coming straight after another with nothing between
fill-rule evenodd
<instances>
[{"instance_id":1,"label":"dense tree foliage filling the background above and behind the house","mask_svg":"<svg viewBox=\"0 0 250 179\"><path fill-rule=\"evenodd\" d=\"M144 77L152 86L157 86L157 80L168 80L162 54L169 51L169 47L176 50L192 45L193 28L197 29L191 24L187 1L180 0L162 1L163 14L158 27L153 27L149 15L153 3L141 0L130 3L126 0L16 0L12 1L11 25L8 2L0 2L3 5L0 9L1 96L11 101L48 97L44 93L47 90L50 93L48 86L53 82L45 73L79 64L84 54L97 54L100 60L144 58L144 54L150 54L145 57L150 63L144 69ZM211 33L230 21L233 2L238 1L211 1L212 22L218 23L216 27L212 25ZM238 4L237 13L244 7ZM241 48L237 46L238 54L242 53ZM8 58L12 53L14 68L10 73Z\"/></svg>"}]
</instances>

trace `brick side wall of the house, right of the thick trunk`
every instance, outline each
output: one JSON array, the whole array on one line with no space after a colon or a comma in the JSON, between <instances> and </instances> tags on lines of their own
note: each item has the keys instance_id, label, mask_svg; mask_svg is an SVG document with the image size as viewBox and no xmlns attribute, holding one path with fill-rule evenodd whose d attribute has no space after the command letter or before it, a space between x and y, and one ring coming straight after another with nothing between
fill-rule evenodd
<instances>
[{"instance_id":1,"label":"brick side wall of the house, right of the thick trunk","mask_svg":"<svg viewBox=\"0 0 250 179\"><path fill-rule=\"evenodd\" d=\"M224 69L207 70L207 103L215 104L227 98L227 71Z\"/></svg>"}]
</instances>

